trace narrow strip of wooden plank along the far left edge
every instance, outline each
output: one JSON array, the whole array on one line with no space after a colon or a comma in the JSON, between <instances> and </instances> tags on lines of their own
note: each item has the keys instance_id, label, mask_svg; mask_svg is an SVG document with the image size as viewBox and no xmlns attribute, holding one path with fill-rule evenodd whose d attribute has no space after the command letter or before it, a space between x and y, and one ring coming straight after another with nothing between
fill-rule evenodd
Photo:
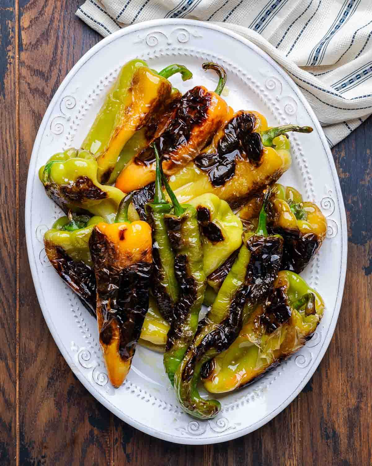
<instances>
[{"instance_id":1,"label":"narrow strip of wooden plank along the far left edge","mask_svg":"<svg viewBox=\"0 0 372 466\"><path fill-rule=\"evenodd\" d=\"M0 160L9 183L0 184L0 464L16 457L17 398L17 190L16 190L16 11L0 4ZM11 177L11 178L10 178ZM10 182L12 179L12 182Z\"/></svg>"}]
</instances>

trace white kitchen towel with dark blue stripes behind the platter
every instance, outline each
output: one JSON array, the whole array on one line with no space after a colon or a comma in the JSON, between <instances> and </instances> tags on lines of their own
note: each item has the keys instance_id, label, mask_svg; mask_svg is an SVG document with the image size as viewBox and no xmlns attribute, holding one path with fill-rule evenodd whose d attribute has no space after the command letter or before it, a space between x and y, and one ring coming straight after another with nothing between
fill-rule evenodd
<instances>
[{"instance_id":1,"label":"white kitchen towel with dark blue stripes behind the platter","mask_svg":"<svg viewBox=\"0 0 372 466\"><path fill-rule=\"evenodd\" d=\"M103 36L157 18L232 29L289 73L331 147L372 113L371 0L86 0L76 14Z\"/></svg>"}]
</instances>

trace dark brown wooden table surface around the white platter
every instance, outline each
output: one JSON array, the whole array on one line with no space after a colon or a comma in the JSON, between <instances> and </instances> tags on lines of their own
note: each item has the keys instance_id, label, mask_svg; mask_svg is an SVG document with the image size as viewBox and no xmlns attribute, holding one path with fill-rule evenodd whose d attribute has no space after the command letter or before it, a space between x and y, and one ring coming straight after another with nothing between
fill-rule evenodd
<instances>
[{"instance_id":1,"label":"dark brown wooden table surface around the white platter","mask_svg":"<svg viewBox=\"0 0 372 466\"><path fill-rule=\"evenodd\" d=\"M47 105L101 39L75 17L78 4L0 1L0 465L371 465L372 119L332 150L349 235L336 331L305 389L275 419L218 445L171 444L113 416L66 364L33 287L24 205Z\"/></svg>"}]
</instances>

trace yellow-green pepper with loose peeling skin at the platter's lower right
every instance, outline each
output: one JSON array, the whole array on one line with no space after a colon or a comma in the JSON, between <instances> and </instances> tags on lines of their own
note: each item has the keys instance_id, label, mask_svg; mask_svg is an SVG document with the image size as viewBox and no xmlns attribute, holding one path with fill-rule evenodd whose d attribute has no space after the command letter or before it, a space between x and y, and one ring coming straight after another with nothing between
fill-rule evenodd
<instances>
[{"instance_id":1,"label":"yellow-green pepper with loose peeling skin at the platter's lower right","mask_svg":"<svg viewBox=\"0 0 372 466\"><path fill-rule=\"evenodd\" d=\"M294 272L280 271L272 295L247 315L238 338L202 369L206 390L251 384L309 340L324 312L321 296Z\"/></svg>"}]
</instances>

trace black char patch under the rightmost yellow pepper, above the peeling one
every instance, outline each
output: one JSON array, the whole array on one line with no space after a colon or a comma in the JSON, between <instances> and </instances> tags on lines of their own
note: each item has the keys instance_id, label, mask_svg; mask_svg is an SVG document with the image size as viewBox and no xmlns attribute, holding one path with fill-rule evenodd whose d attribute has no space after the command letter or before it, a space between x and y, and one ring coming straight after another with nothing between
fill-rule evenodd
<instances>
[{"instance_id":1,"label":"black char patch under the rightmost yellow pepper, above the peeling one","mask_svg":"<svg viewBox=\"0 0 372 466\"><path fill-rule=\"evenodd\" d=\"M282 269L301 273L318 251L321 243L315 233L301 233L299 230L285 230L271 227L273 233L284 238Z\"/></svg>"}]
</instances>

